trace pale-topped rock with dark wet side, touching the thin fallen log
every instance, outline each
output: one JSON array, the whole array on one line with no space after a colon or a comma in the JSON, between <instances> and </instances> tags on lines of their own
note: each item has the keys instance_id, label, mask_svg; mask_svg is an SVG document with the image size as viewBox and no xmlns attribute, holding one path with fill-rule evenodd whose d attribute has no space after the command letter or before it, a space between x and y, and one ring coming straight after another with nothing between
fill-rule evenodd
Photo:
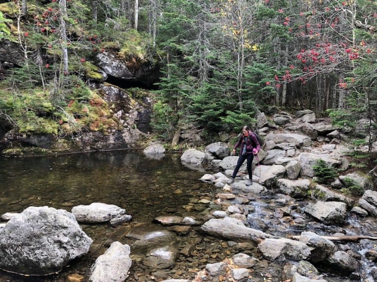
<instances>
[{"instance_id":1,"label":"pale-topped rock with dark wet side, touching the thin fallen log","mask_svg":"<svg viewBox=\"0 0 377 282\"><path fill-rule=\"evenodd\" d=\"M310 248L309 260L314 263L323 261L335 250L333 242L313 232L302 232L300 242L305 243Z\"/></svg>"}]
</instances>

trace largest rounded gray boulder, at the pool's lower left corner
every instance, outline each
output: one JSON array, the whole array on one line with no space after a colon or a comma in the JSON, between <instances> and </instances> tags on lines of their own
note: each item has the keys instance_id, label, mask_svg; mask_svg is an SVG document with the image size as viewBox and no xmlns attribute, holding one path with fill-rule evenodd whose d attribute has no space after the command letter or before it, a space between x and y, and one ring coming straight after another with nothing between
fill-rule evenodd
<instances>
[{"instance_id":1,"label":"largest rounded gray boulder, at the pool's lower left corner","mask_svg":"<svg viewBox=\"0 0 377 282\"><path fill-rule=\"evenodd\" d=\"M59 272L93 240L65 210L28 207L0 229L0 268L24 275Z\"/></svg>"}]
</instances>

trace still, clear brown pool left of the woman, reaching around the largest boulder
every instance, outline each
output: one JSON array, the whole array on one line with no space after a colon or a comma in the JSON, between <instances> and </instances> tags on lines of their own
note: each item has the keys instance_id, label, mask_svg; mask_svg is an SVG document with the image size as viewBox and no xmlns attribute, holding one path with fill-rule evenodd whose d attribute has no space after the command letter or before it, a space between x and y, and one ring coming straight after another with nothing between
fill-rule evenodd
<instances>
[{"instance_id":1,"label":"still, clear brown pool left of the woman, reaching around the largest boulder","mask_svg":"<svg viewBox=\"0 0 377 282\"><path fill-rule=\"evenodd\" d=\"M101 202L124 208L133 216L131 224L152 222L166 213L195 216L195 211L190 214L183 207L192 197L200 198L213 190L198 180L202 175L182 165L178 154L156 160L136 150L0 158L0 214L29 206L71 211L76 205ZM174 193L177 189L182 193ZM86 275L90 264L106 250L104 242L122 240L129 226L95 224L82 228L94 240L91 250L63 273L27 278L0 271L0 282L65 281L68 273Z\"/></svg>"}]
</instances>

